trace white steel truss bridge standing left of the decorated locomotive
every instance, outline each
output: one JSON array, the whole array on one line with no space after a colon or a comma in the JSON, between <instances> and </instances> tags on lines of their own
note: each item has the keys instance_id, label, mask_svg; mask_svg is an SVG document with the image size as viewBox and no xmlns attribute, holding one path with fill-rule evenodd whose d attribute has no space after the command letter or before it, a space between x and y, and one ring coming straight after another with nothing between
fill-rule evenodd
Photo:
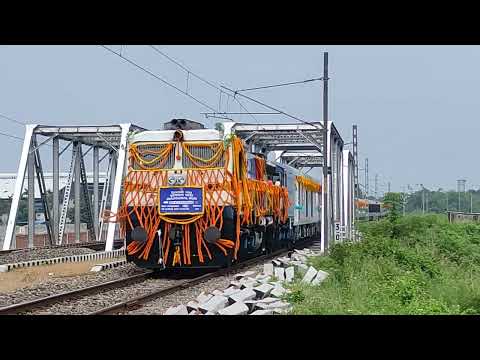
<instances>
[{"instance_id":1,"label":"white steel truss bridge standing left of the decorated locomotive","mask_svg":"<svg viewBox=\"0 0 480 360\"><path fill-rule=\"evenodd\" d=\"M50 126L26 125L23 148L15 182L15 189L10 207L3 249L12 247L15 236L15 224L25 175L27 173L28 191L28 247L34 246L35 236L35 179L38 182L40 199L45 217L45 226L49 243L62 244L67 222L67 212L71 203L73 186L74 232L75 242L80 242L80 204L84 204L89 239L105 241L106 250L113 248L116 224L104 223L103 213L110 210L116 213L120 201L122 179L125 171L127 136L130 131L145 130L132 124L111 126ZM39 140L43 137L43 141ZM46 139L45 139L46 138ZM60 141L65 143L60 151ZM51 142L51 144L49 144ZM40 148L49 145L52 148L53 189L52 206L47 201L47 190L44 180L44 168L40 159ZM60 201L59 174L60 156L70 150L68 178L63 188ZM84 147L86 150L84 150ZM45 147L44 147L45 149ZM86 176L85 156L93 149L93 196L90 196ZM100 158L100 151L104 152ZM107 158L107 173L103 183L101 198L99 197L100 164ZM92 199L93 197L93 199ZM82 198L82 201L80 200ZM106 232L106 234L105 234Z\"/></svg>"}]
</instances>

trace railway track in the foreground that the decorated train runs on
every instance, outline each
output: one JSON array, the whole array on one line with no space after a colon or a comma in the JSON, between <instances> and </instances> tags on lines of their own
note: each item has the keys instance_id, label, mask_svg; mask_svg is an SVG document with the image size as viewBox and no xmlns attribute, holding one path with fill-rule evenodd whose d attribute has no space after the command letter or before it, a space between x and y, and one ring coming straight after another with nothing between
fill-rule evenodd
<instances>
[{"instance_id":1,"label":"railway track in the foreground that the decorated train runs on","mask_svg":"<svg viewBox=\"0 0 480 360\"><path fill-rule=\"evenodd\" d=\"M312 240L298 243L295 247L305 247ZM187 280L156 278L154 272L145 272L127 278L84 287L60 294L34 299L0 308L0 315L7 314L121 314L138 309L142 304L186 289L195 284L238 272L271 258L288 253L282 249L268 255L223 268L215 272L196 276ZM172 284L173 283L173 284ZM136 296L132 297L132 294ZM138 295L141 294L141 295ZM118 299L122 301L118 302ZM92 311L93 308L93 311Z\"/></svg>"}]
</instances>

